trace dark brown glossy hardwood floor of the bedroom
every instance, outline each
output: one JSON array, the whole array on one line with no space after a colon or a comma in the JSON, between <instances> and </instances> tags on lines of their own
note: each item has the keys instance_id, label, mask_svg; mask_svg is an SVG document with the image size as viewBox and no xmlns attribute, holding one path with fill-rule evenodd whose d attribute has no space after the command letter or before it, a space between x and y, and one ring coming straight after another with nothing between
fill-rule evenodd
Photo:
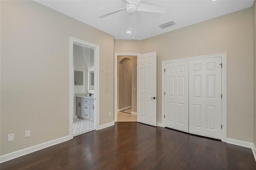
<instances>
[{"instance_id":1,"label":"dark brown glossy hardwood floor of the bedroom","mask_svg":"<svg viewBox=\"0 0 256 170\"><path fill-rule=\"evenodd\" d=\"M0 164L32 170L256 170L250 148L136 122L92 131Z\"/></svg>"}]
</instances>

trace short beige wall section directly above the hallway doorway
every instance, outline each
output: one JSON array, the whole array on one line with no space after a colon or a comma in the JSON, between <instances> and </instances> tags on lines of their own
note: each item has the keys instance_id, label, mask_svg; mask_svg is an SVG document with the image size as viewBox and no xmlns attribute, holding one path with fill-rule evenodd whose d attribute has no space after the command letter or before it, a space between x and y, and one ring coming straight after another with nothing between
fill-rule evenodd
<instances>
[{"instance_id":1,"label":"short beige wall section directly above the hallway doorway","mask_svg":"<svg viewBox=\"0 0 256 170\"><path fill-rule=\"evenodd\" d=\"M114 51L120 53L140 53L140 40L114 40Z\"/></svg>"}]
</instances>

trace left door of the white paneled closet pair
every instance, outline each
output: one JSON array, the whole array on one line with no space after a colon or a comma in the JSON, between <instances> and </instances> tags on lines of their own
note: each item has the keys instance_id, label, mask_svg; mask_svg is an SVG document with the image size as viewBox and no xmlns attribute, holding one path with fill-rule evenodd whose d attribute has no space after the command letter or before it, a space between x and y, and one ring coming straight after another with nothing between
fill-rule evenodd
<instances>
[{"instance_id":1,"label":"left door of the white paneled closet pair","mask_svg":"<svg viewBox=\"0 0 256 170\"><path fill-rule=\"evenodd\" d=\"M188 61L165 65L165 127L188 132Z\"/></svg>"}]
</instances>

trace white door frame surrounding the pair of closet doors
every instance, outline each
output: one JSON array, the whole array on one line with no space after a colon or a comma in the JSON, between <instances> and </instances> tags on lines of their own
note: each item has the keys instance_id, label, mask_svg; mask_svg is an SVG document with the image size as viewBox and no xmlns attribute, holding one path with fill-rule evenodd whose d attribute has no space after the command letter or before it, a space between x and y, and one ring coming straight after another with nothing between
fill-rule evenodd
<instances>
[{"instance_id":1,"label":"white door frame surrounding the pair of closet doors","mask_svg":"<svg viewBox=\"0 0 256 170\"><path fill-rule=\"evenodd\" d=\"M223 142L227 141L227 53L216 53L209 55L201 55L196 57L188 57L181 59L172 59L168 61L162 61L162 69L165 68L166 63L174 63L180 61L190 61L195 59L206 59L206 58L214 58L221 57L222 59L222 138ZM164 70L162 71L162 126L164 125Z\"/></svg>"}]
</instances>

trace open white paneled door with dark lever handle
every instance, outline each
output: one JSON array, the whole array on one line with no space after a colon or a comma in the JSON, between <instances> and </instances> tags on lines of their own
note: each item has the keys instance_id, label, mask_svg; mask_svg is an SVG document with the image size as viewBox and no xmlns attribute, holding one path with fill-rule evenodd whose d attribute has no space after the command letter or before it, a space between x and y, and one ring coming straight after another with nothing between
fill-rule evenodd
<instances>
[{"instance_id":1,"label":"open white paneled door with dark lever handle","mask_svg":"<svg viewBox=\"0 0 256 170\"><path fill-rule=\"evenodd\" d=\"M156 126L156 51L137 56L137 121Z\"/></svg>"}]
</instances>

